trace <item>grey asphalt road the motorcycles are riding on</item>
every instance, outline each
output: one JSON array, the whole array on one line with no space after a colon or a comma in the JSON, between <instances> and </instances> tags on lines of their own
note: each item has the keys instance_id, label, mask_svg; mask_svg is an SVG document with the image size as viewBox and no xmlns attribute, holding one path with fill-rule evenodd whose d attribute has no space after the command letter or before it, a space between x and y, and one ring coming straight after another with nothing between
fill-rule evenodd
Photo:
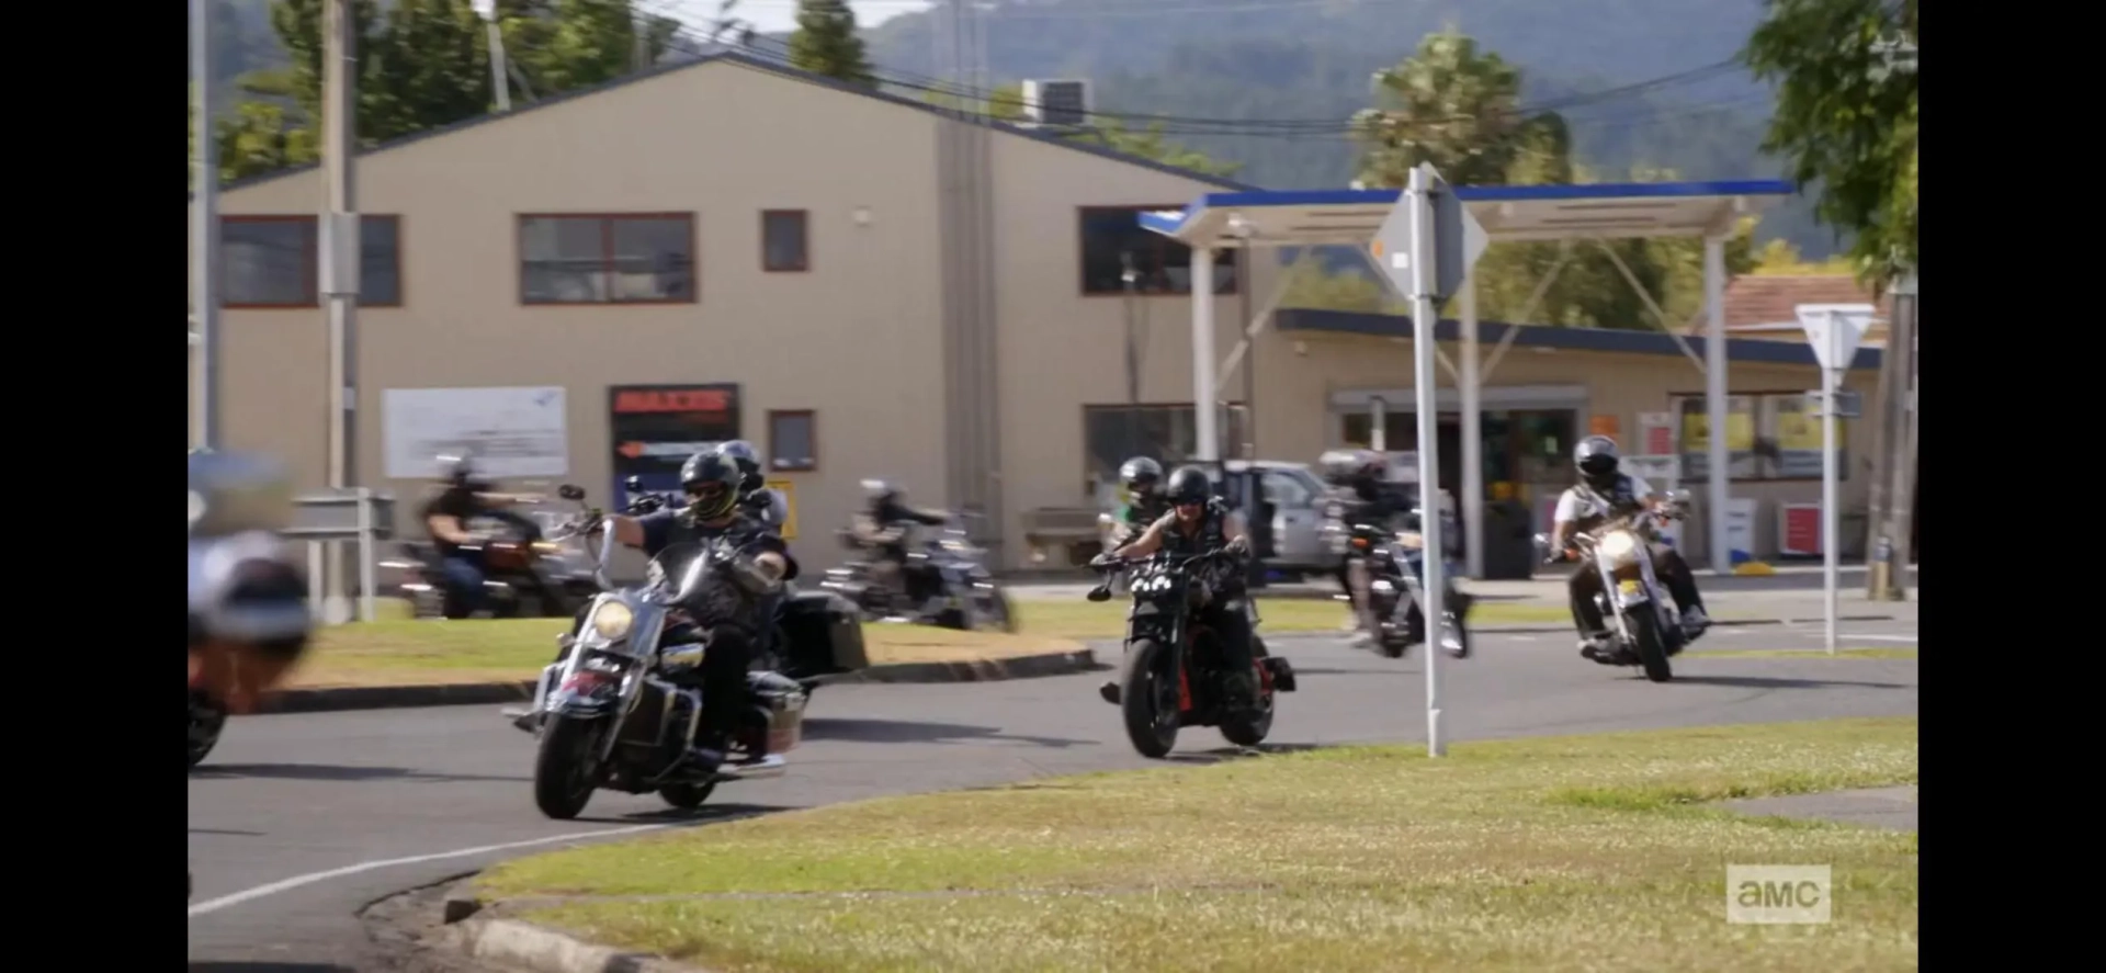
<instances>
[{"instance_id":1,"label":"grey asphalt road the motorcycles are riding on","mask_svg":"<svg viewBox=\"0 0 2106 973\"><path fill-rule=\"evenodd\" d=\"M1845 623L1845 644L1912 647L1900 621ZM1676 659L1676 680L1577 657L1556 634L1485 634L1443 659L1449 739L1643 727L1900 716L1916 712L1914 659ZM1382 659L1335 636L1270 638L1302 676L1268 743L1422 741L1419 655ZM1813 628L1716 628L1702 649L1817 649ZM792 773L718 788L697 815L602 792L579 821L548 821L529 794L533 739L491 706L236 718L190 775L194 971L402 969L358 920L375 899L575 840L878 794L1150 767L1097 699L1106 674L826 687ZM1173 758L1207 758L1219 733L1188 731Z\"/></svg>"}]
</instances>

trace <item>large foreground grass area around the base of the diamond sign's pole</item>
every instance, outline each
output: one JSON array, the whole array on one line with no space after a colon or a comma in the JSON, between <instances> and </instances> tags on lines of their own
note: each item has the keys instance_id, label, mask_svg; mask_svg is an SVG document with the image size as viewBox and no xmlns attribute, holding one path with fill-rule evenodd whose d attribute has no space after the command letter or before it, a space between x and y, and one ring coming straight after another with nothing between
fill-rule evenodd
<instances>
[{"instance_id":1,"label":"large foreground grass area around the base of the diamond sign's pole","mask_svg":"<svg viewBox=\"0 0 2106 973\"><path fill-rule=\"evenodd\" d=\"M1914 718L1339 748L790 811L478 885L727 973L1916 969L1912 832L1706 807L1914 779ZM1832 866L1832 922L1727 925L1727 863Z\"/></svg>"}]
</instances>

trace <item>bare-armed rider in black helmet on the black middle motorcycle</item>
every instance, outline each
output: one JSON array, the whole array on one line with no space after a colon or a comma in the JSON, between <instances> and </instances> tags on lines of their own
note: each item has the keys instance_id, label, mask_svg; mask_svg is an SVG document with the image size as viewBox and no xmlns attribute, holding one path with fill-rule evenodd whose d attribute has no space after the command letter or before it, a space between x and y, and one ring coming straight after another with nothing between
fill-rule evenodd
<instances>
[{"instance_id":1,"label":"bare-armed rider in black helmet on the black middle motorcycle","mask_svg":"<svg viewBox=\"0 0 2106 973\"><path fill-rule=\"evenodd\" d=\"M1226 562L1213 564L1209 588L1213 598L1198 609L1198 621L1213 630L1221 644L1221 672L1228 674L1228 706L1249 710L1257 706L1257 663L1251 655L1251 617L1245 611L1245 560L1251 556L1251 537L1243 533L1243 518L1228 510L1228 501L1213 495L1207 470L1181 465L1171 474L1171 512L1131 543L1097 556L1095 564L1146 558L1154 552L1173 556L1228 554Z\"/></svg>"}]
</instances>

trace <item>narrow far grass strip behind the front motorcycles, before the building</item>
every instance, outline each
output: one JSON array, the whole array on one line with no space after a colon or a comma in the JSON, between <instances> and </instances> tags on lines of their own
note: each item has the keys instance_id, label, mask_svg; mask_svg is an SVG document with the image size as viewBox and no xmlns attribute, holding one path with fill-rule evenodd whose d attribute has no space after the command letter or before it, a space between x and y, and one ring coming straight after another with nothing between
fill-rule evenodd
<instances>
[{"instance_id":1,"label":"narrow far grass strip behind the front motorcycles, before the building","mask_svg":"<svg viewBox=\"0 0 2106 973\"><path fill-rule=\"evenodd\" d=\"M950 632L931 626L863 626L872 666L906 661L1009 659L1061 653L1078 642L1120 638L1127 604L1074 600L1019 600L1017 634ZM406 602L390 602L381 621L324 630L310 659L293 674L293 689L409 687L440 682L526 680L556 657L556 636L569 619L409 619ZM1264 632L1335 632L1346 609L1333 600L1268 598L1259 602ZM1474 623L1563 621L1565 609L1539 604L1478 604Z\"/></svg>"}]
</instances>

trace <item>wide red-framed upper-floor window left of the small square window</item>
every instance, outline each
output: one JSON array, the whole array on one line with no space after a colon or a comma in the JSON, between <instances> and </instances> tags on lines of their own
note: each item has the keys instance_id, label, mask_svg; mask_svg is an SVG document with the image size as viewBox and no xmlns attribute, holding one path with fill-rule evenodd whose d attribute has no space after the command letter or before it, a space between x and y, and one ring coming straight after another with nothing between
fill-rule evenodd
<instances>
[{"instance_id":1,"label":"wide red-framed upper-floor window left of the small square window","mask_svg":"<svg viewBox=\"0 0 2106 973\"><path fill-rule=\"evenodd\" d=\"M693 213L520 217L520 303L693 301Z\"/></svg>"}]
</instances>

